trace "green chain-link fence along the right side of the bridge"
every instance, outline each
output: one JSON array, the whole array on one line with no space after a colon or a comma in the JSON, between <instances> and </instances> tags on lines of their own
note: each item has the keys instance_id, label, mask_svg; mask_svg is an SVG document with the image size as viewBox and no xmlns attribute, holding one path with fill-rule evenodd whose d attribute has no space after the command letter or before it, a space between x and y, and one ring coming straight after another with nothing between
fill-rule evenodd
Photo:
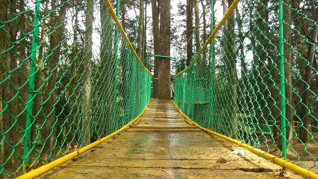
<instances>
[{"instance_id":1,"label":"green chain-link fence along the right side of the bridge","mask_svg":"<svg viewBox=\"0 0 318 179\"><path fill-rule=\"evenodd\" d=\"M317 36L317 0L241 1L175 77L174 101L198 124L318 173Z\"/></svg>"}]
</instances>

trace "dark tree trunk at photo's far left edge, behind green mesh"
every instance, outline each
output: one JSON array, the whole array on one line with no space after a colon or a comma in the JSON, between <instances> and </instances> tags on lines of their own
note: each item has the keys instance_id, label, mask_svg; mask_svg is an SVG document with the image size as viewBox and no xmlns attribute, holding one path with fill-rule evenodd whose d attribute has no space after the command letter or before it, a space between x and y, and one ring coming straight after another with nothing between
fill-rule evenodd
<instances>
[{"instance_id":1,"label":"dark tree trunk at photo's far left edge, behind green mesh","mask_svg":"<svg viewBox=\"0 0 318 179\"><path fill-rule=\"evenodd\" d=\"M4 21L7 21L7 23L1 27L2 30L0 32L0 49L1 52L8 50L9 48L11 49L1 54L0 58L0 63L2 64L0 67L0 79L1 82L3 82L4 80L4 82L0 86L0 88L2 88L0 97L2 99L1 102L3 102L1 103L2 108L0 108L0 115L2 115L2 125L0 127L2 128L2 131L6 131L4 139L0 138L0 140L2 141L2 149L0 150L3 153L2 160L6 161L7 159L9 159L4 168L13 167L15 170L17 170L21 165L21 161L19 161L18 157L19 155L21 155L21 147L19 145L21 135L20 129L19 127L17 127L17 125L21 125L21 121L23 120L19 121L19 118L21 117L19 116L18 109L19 102L21 101L19 101L17 97L17 89L20 87L18 76L20 74L19 71L16 70L18 68L18 58L15 52L19 51L19 49L17 49L16 45L13 46L13 44L16 44L18 31L20 31L17 26L22 26L25 24L22 24L23 22L21 23L20 20L11 21L12 19L14 19L17 10L23 10L23 6L18 6L17 2L14 0L3 1L1 5L3 7L0 10L0 17L1 20L3 19ZM5 71L4 69L2 69L3 67Z\"/></svg>"}]
</instances>

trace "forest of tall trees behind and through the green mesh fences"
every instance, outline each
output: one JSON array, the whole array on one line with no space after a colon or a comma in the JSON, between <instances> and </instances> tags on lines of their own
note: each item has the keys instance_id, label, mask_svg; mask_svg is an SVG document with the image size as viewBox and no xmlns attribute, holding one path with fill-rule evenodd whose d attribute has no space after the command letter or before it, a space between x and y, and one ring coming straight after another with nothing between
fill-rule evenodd
<instances>
[{"instance_id":1,"label":"forest of tall trees behind and through the green mesh fences","mask_svg":"<svg viewBox=\"0 0 318 179\"><path fill-rule=\"evenodd\" d=\"M317 1L241 1L213 38L234 0L105 1L1 1L0 179L112 133L170 86L200 125L318 170Z\"/></svg>"}]
</instances>

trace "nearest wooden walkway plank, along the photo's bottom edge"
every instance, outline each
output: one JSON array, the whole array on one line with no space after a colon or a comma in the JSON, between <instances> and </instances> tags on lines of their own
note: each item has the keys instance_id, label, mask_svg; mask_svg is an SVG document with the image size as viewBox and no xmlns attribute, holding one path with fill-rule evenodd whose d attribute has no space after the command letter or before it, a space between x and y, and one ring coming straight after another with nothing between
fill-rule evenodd
<instances>
[{"instance_id":1,"label":"nearest wooden walkway plank, along the photo's bottom edge","mask_svg":"<svg viewBox=\"0 0 318 179\"><path fill-rule=\"evenodd\" d=\"M278 173L254 173L239 170L188 170L157 168L116 168L75 166L59 168L42 179L281 179ZM293 178L299 179L299 178Z\"/></svg>"}]
</instances>

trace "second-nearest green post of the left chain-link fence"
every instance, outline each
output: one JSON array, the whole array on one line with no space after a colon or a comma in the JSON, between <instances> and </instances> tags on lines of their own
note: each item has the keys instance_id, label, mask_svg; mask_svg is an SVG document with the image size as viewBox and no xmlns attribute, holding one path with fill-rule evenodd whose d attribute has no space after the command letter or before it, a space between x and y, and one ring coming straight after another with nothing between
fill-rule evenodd
<instances>
[{"instance_id":1,"label":"second-nearest green post of the left chain-link fence","mask_svg":"<svg viewBox=\"0 0 318 179\"><path fill-rule=\"evenodd\" d=\"M117 18L119 18L119 5L120 5L120 0L117 0ZM113 102L113 127L115 127L115 120L116 120L116 98L117 98L117 60L118 60L118 29L115 30L115 81L114 81L114 102Z\"/></svg>"}]
</instances>

